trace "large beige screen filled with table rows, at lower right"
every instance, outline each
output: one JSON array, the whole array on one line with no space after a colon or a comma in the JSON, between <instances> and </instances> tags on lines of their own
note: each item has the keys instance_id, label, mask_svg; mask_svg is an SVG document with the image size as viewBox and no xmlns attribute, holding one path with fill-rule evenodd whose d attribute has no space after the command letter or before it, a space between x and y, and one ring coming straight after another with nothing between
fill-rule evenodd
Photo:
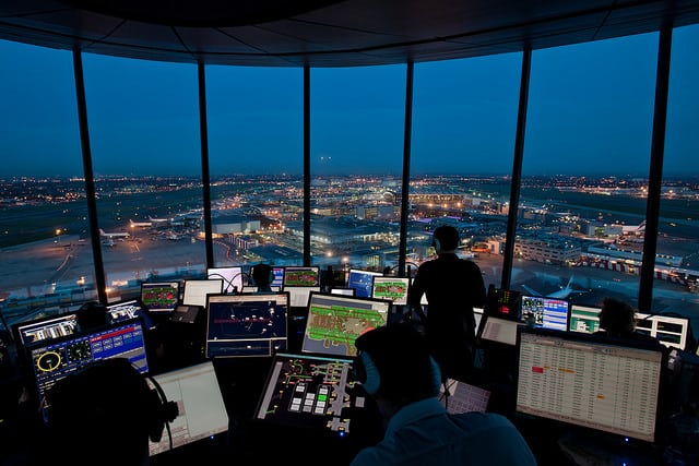
<instances>
[{"instance_id":1,"label":"large beige screen filled with table rows, at lower right","mask_svg":"<svg viewBox=\"0 0 699 466\"><path fill-rule=\"evenodd\" d=\"M664 351L577 332L522 327L519 413L655 440Z\"/></svg>"}]
</instances>

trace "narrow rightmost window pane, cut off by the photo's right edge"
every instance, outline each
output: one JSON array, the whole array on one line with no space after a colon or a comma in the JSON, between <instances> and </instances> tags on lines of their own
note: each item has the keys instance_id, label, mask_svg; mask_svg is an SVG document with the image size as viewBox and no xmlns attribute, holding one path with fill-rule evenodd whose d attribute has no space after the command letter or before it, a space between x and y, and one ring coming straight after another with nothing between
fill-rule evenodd
<instances>
[{"instance_id":1,"label":"narrow rightmost window pane, cut off by the photo's right edge","mask_svg":"<svg viewBox=\"0 0 699 466\"><path fill-rule=\"evenodd\" d=\"M674 312L699 325L699 26L673 32L652 312ZM697 331L694 332L697 335Z\"/></svg>"}]
</instances>

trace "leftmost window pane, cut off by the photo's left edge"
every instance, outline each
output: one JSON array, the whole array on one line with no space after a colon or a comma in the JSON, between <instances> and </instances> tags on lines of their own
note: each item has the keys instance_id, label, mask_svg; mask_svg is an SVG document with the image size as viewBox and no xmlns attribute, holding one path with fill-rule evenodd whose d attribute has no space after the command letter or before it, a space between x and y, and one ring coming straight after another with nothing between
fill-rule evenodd
<instances>
[{"instance_id":1,"label":"leftmost window pane, cut off by the photo's left edge","mask_svg":"<svg viewBox=\"0 0 699 466\"><path fill-rule=\"evenodd\" d=\"M0 312L11 325L96 294L72 55L0 40Z\"/></svg>"}]
</instances>

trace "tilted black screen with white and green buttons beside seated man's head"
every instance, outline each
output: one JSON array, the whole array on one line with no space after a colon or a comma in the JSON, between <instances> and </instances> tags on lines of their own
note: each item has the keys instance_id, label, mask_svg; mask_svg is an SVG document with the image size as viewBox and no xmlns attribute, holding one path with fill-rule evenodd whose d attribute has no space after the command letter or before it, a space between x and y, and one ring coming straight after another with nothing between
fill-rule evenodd
<instances>
[{"instance_id":1,"label":"tilted black screen with white and green buttons beside seated man's head","mask_svg":"<svg viewBox=\"0 0 699 466\"><path fill-rule=\"evenodd\" d=\"M254 418L344 437L363 402L352 359L277 354Z\"/></svg>"}]
</instances>

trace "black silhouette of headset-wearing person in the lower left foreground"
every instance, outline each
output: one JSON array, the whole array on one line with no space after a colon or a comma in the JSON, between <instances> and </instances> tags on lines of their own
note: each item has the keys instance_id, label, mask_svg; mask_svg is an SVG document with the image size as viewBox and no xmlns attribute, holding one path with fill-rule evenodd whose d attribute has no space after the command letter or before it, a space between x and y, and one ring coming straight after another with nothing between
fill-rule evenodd
<instances>
[{"instance_id":1,"label":"black silhouette of headset-wearing person in the lower left foreground","mask_svg":"<svg viewBox=\"0 0 699 466\"><path fill-rule=\"evenodd\" d=\"M70 452L71 465L145 466L149 439L158 441L177 416L176 405L161 399L126 358L72 373L47 393L44 454Z\"/></svg>"}]
</instances>

